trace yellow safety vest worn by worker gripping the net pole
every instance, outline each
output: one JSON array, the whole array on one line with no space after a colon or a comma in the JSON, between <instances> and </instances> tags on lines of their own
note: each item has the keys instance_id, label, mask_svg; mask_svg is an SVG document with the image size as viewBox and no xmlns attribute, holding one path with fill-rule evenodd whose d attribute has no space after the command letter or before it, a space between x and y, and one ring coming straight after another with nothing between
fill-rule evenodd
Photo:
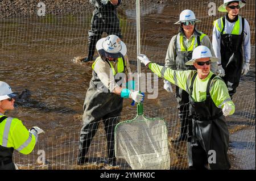
<instances>
[{"instance_id":1,"label":"yellow safety vest worn by worker gripping the net pole","mask_svg":"<svg viewBox=\"0 0 256 181\"><path fill-rule=\"evenodd\" d=\"M103 85L103 83L100 81L100 78L98 78L97 73L94 71L94 66L96 65L96 62L98 60L100 60L100 58L101 57L96 58L96 60L94 61L93 65L92 65L93 73L92 73L92 79L91 79L90 82L92 83L93 86L97 87L97 89L100 89L101 91L105 92L105 91L108 90L108 88L106 88ZM105 60L105 61L109 64L109 66L110 66L110 68L112 70L112 74L113 74L113 76L115 78L115 82L118 84L118 86L121 86L123 80L126 77L126 76L124 76L125 75L125 71L127 69L126 68L125 57L122 56L122 57L117 58L117 61L118 61L117 62L117 71L115 71L115 68L112 65L112 62L110 62L108 60ZM110 92L110 91L108 90L108 92Z\"/></svg>"}]
</instances>

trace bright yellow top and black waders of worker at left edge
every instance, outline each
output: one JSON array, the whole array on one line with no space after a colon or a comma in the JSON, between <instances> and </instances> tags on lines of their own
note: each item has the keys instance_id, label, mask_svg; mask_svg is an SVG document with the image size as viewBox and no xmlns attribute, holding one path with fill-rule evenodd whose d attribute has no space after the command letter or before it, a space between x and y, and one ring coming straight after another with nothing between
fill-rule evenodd
<instances>
[{"instance_id":1,"label":"bright yellow top and black waders of worker at left edge","mask_svg":"<svg viewBox=\"0 0 256 181\"><path fill-rule=\"evenodd\" d=\"M20 130L19 135L14 135ZM13 157L14 149L20 153L29 154L34 149L37 138L28 132L19 119L7 117L0 113L0 161Z\"/></svg>"}]
</instances>

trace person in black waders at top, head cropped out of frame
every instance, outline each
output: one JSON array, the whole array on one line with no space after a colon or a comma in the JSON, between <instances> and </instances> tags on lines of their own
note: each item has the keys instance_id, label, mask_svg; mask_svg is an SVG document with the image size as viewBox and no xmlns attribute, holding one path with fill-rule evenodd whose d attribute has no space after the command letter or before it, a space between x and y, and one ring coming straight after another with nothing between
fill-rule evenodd
<instances>
[{"instance_id":1,"label":"person in black waders at top, head cropped out of frame","mask_svg":"<svg viewBox=\"0 0 256 181\"><path fill-rule=\"evenodd\" d=\"M94 11L88 32L88 57L82 60L82 62L93 61L95 45L100 40L103 32L106 32L108 35L117 35L119 39L122 39L116 10L121 0L90 0L90 3L94 6Z\"/></svg>"}]
</instances>

